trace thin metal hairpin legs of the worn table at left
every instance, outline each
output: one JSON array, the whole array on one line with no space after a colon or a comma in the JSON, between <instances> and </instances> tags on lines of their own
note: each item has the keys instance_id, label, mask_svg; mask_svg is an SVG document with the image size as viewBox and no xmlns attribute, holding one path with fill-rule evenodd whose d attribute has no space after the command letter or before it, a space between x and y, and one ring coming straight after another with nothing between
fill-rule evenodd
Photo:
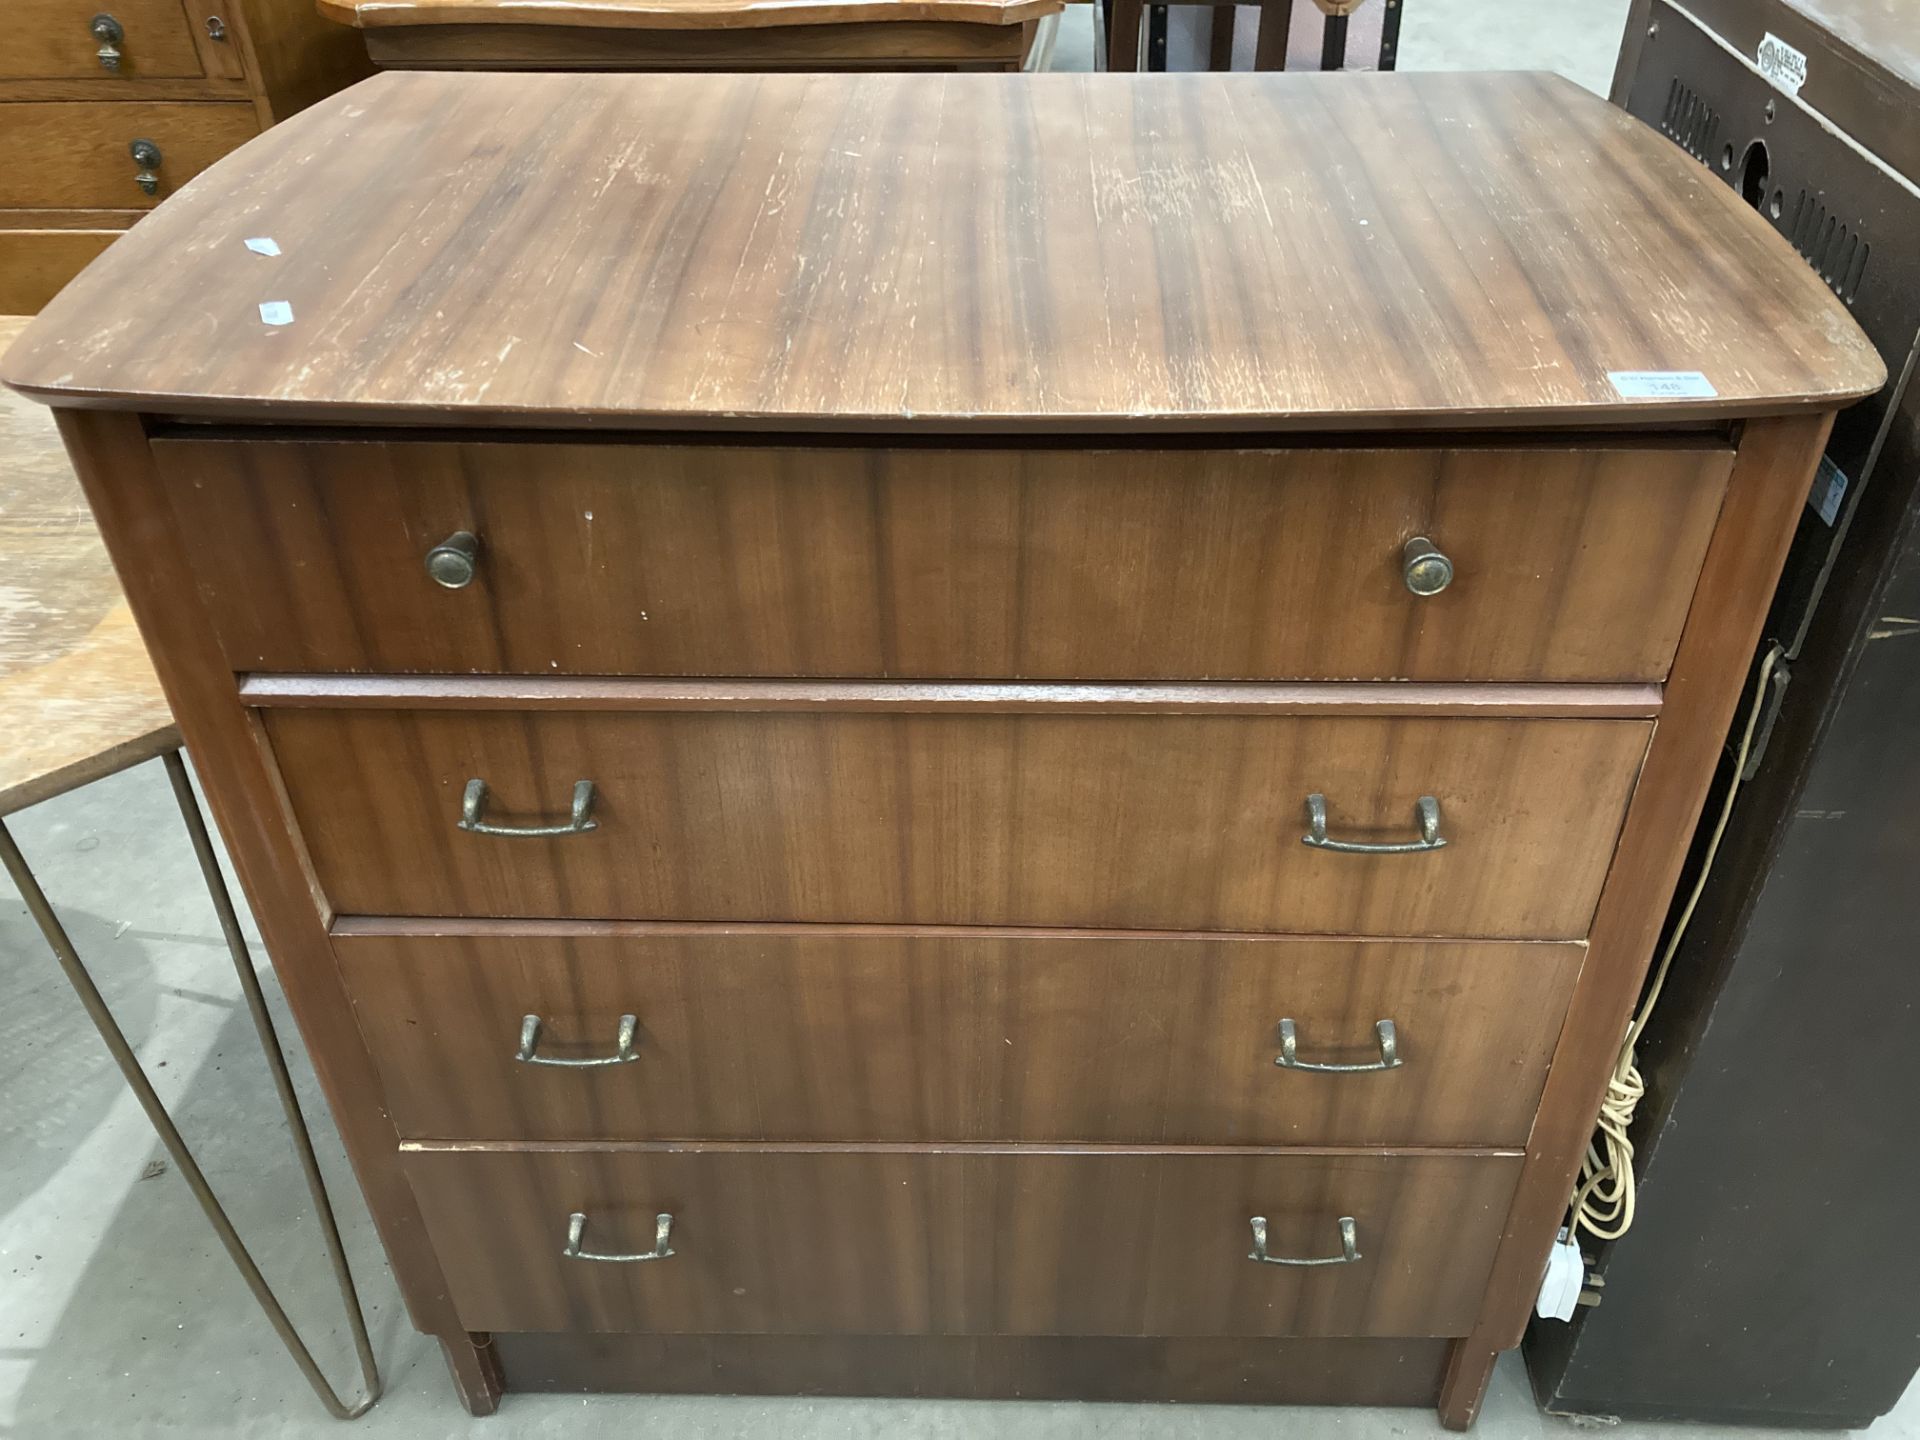
<instances>
[{"instance_id":1,"label":"thin metal hairpin legs of the worn table at left","mask_svg":"<svg viewBox=\"0 0 1920 1440\"><path fill-rule=\"evenodd\" d=\"M67 981L73 985L75 995L81 996L81 1004L86 1006L86 1016L94 1021L94 1029L100 1031L100 1039L106 1041L106 1046L113 1056L113 1064L119 1066L127 1085L140 1100L140 1108L146 1110L146 1117L154 1121L154 1129L159 1133L159 1142L167 1146L167 1154L173 1158L175 1169L180 1171L186 1187L194 1192L194 1198L205 1212L215 1235L219 1235L221 1246L225 1246L227 1256L234 1261L234 1267L246 1281L248 1290L253 1292L253 1300L259 1302L259 1308L267 1313L267 1321L280 1336L280 1344L286 1346L294 1363L300 1365L300 1373L307 1377L307 1384L313 1386L313 1394L319 1396L328 1415L340 1421L359 1419L372 1409L374 1402L380 1400L380 1371L372 1357L372 1344L367 1338L367 1319L361 1313L359 1294L353 1288L353 1273L348 1269L348 1256L340 1244L340 1227L334 1223L334 1210L326 1200L326 1183L321 1179L321 1165L313 1156L313 1139L307 1135L307 1121L300 1114L294 1081L286 1071L286 1056L282 1054L280 1041L275 1035L273 1018L267 1014L267 1000L259 991L259 977L253 973L253 956L248 950L246 937L240 933L240 920L234 914L232 895L227 891L227 879L221 876L221 864L213 852L213 839L207 835L207 824L200 814L200 803L194 799L194 781L186 776L186 762L180 758L179 749L163 751L159 758L167 766L167 780L173 783L173 797L179 801L180 818L186 822L186 833L194 843L194 858L200 860L200 874L205 876L207 895L213 899L213 908L221 918L221 933L227 937L227 952L232 956L234 973L240 977L240 993L246 996L248 1014L253 1018L253 1031L259 1035L259 1048L267 1056L267 1068L273 1071L273 1087L280 1094L280 1110L286 1114L286 1127L292 1133L294 1150L300 1156L300 1169L307 1179L307 1194L313 1196L313 1208L321 1219L321 1233L326 1238L326 1254L332 1260L334 1281L340 1286L340 1298L346 1304L348 1323L353 1329L353 1350L359 1354L361 1380L367 1392L357 1404L348 1405L342 1402L334 1388L326 1382L326 1377L321 1375L321 1367L313 1363L313 1354L300 1338L294 1323L286 1317L286 1311L280 1308L280 1302L267 1284L267 1279L259 1273L259 1265L253 1263L253 1256L248 1254L248 1248L240 1240L240 1233L232 1227L232 1221L227 1219L227 1212L213 1194L213 1187L207 1185L207 1177L194 1162L192 1152L188 1152L186 1140L180 1139L179 1127L175 1127L173 1117L167 1114L165 1106L161 1106L146 1071L140 1069L140 1060L134 1056L132 1046L127 1044L127 1037L121 1033L119 1023L115 1023L106 1000L100 998L100 991L94 985L92 975L86 973L86 966L81 960L79 950L73 948L73 941L67 937L65 927L54 914L54 906L48 902L46 893L27 868L27 858L19 852L19 847L13 843L13 835L8 831L4 820L0 820L0 862L6 864L8 876L12 876L13 883L19 887L21 899L27 900L27 910L33 914L35 924L40 927L48 947L52 947L54 956L60 960L60 968L67 972Z\"/></svg>"}]
</instances>

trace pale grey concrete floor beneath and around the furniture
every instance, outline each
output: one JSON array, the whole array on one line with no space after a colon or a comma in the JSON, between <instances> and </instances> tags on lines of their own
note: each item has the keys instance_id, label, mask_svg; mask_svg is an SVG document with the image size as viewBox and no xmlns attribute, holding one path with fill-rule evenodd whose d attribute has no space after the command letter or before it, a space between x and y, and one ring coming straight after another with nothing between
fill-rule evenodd
<instances>
[{"instance_id":1,"label":"pale grey concrete floor beneath and around the furniture","mask_svg":"<svg viewBox=\"0 0 1920 1440\"><path fill-rule=\"evenodd\" d=\"M1402 65L1549 67L1605 90L1624 13L1626 0L1407 0ZM1062 67L1085 52L1087 36L1081 25L1062 36ZM10 826L242 1235L253 1242L323 1363L348 1384L351 1350L324 1252L159 766L36 806ZM292 1037L271 972L265 983L282 1031ZM269 1440L334 1432L219 1252L186 1187L163 1169L146 1119L4 881L0 995L6 996L0 1006L0 1436ZM509 1396L493 1421L468 1421L453 1402L438 1350L401 1313L313 1075L298 1044L294 1050L386 1371L388 1398L353 1434L407 1440L1440 1434L1430 1415L1400 1409L885 1400ZM1567 1430L1567 1423L1534 1409L1524 1375L1507 1357L1478 1434L1526 1440ZM1630 1440L1711 1434L1642 1425L1620 1432ZM1920 1438L1920 1390L1908 1392L1874 1434Z\"/></svg>"}]
</instances>

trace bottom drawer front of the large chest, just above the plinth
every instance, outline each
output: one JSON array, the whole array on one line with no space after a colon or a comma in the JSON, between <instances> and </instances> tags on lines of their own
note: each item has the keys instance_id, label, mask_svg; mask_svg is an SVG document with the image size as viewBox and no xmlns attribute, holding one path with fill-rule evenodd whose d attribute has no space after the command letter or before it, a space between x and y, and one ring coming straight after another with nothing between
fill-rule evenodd
<instances>
[{"instance_id":1,"label":"bottom drawer front of the large chest, just above the plinth","mask_svg":"<svg viewBox=\"0 0 1920 1440\"><path fill-rule=\"evenodd\" d=\"M1519 1156L409 1150L470 1331L1465 1334ZM670 1213L670 1258L647 1254ZM1292 1267L1267 1254L1359 1260Z\"/></svg>"}]
</instances>

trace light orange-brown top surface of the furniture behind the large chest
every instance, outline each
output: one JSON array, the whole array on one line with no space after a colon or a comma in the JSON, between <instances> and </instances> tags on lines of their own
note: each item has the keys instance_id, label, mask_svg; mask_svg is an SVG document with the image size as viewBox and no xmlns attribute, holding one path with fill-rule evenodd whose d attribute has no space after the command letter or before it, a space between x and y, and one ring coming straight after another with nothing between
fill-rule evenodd
<instances>
[{"instance_id":1,"label":"light orange-brown top surface of the furniture behind the large chest","mask_svg":"<svg viewBox=\"0 0 1920 1440\"><path fill-rule=\"evenodd\" d=\"M361 29L424 25L555 25L568 29L760 29L866 21L1020 25L1064 0L319 0L319 12Z\"/></svg>"}]
</instances>

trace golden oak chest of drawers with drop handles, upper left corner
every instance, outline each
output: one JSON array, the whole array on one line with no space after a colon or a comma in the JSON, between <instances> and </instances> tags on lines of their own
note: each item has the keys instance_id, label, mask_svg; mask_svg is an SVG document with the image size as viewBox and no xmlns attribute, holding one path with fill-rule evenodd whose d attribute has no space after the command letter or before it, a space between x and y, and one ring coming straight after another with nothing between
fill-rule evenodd
<instances>
[{"instance_id":1,"label":"golden oak chest of drawers with drop handles, upper left corner","mask_svg":"<svg viewBox=\"0 0 1920 1440\"><path fill-rule=\"evenodd\" d=\"M371 69L311 0L8 0L0 25L0 315Z\"/></svg>"}]
</instances>

